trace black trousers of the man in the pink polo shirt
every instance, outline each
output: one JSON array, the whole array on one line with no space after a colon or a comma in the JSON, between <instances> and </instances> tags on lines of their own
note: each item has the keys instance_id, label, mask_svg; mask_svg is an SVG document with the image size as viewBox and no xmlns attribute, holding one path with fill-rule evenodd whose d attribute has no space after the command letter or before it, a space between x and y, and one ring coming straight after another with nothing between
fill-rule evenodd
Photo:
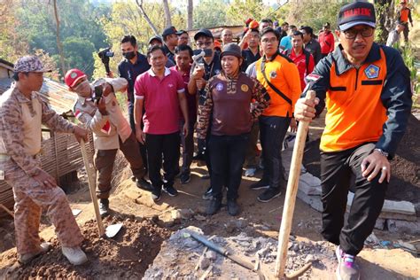
<instances>
[{"instance_id":1,"label":"black trousers of the man in the pink polo shirt","mask_svg":"<svg viewBox=\"0 0 420 280\"><path fill-rule=\"evenodd\" d=\"M149 166L149 178L155 191L162 189L162 176L160 168L162 167L163 155L163 175L165 186L172 187L175 181L175 175L179 170L179 132L164 135L153 135L146 133L147 160Z\"/></svg>"}]
</instances>

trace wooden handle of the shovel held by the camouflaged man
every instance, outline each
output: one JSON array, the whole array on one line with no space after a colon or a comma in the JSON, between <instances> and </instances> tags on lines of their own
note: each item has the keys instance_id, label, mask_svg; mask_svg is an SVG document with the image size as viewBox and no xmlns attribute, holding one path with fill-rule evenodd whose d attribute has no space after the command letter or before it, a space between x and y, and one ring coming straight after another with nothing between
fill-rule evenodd
<instances>
[{"instance_id":1,"label":"wooden handle of the shovel held by the camouflaged man","mask_svg":"<svg viewBox=\"0 0 420 280\"><path fill-rule=\"evenodd\" d=\"M97 205L97 180L96 180L96 171L93 165L89 162L88 151L86 150L86 145L84 144L84 140L81 140L81 150L83 156L83 163L84 167L86 168L86 173L88 174L88 183L89 183L89 191L90 191L90 198L92 198L93 206L95 207L95 216L97 218L97 229L99 231L99 237L104 236L104 224L102 223L101 215L99 214L99 206Z\"/></svg>"}]
</instances>

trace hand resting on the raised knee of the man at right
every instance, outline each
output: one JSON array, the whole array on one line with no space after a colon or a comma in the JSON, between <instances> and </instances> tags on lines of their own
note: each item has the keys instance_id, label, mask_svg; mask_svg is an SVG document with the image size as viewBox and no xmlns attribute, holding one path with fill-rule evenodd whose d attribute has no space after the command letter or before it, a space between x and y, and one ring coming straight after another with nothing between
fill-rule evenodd
<instances>
[{"instance_id":1,"label":"hand resting on the raised knee of the man at right","mask_svg":"<svg viewBox=\"0 0 420 280\"><path fill-rule=\"evenodd\" d=\"M372 181L379 173L379 183L389 183L391 179L391 166L388 159L380 152L373 151L368 157L362 161L362 175L366 177L368 181Z\"/></svg>"}]
</instances>

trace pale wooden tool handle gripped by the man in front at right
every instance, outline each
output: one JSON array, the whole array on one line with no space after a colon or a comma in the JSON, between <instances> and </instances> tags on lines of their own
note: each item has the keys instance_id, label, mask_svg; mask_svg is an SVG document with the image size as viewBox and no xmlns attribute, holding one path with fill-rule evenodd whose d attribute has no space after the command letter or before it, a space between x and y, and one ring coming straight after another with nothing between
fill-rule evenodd
<instances>
[{"instance_id":1,"label":"pale wooden tool handle gripped by the man in front at right","mask_svg":"<svg viewBox=\"0 0 420 280\"><path fill-rule=\"evenodd\" d=\"M307 91L307 99L315 99L315 91ZM287 247L289 244L289 236L292 229L293 211L296 203L296 195L299 187L300 165L303 158L303 150L305 148L305 140L307 138L308 121L299 121L298 133L293 147L292 163L287 181L286 196L284 198L284 208L282 216L282 224L278 232L278 247L276 256L275 276L277 278L284 277L284 268L287 259Z\"/></svg>"}]
</instances>

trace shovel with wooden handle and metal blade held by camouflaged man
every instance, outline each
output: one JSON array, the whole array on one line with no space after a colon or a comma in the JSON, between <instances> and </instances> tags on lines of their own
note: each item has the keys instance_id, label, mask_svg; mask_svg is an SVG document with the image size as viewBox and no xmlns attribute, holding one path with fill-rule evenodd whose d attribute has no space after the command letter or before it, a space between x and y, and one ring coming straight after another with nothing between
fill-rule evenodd
<instances>
[{"instance_id":1,"label":"shovel with wooden handle and metal blade held by camouflaged man","mask_svg":"<svg viewBox=\"0 0 420 280\"><path fill-rule=\"evenodd\" d=\"M86 145L84 144L83 139L81 140L81 150L82 150L84 167L86 168L86 172L88 174L90 198L92 198L93 206L95 208L95 217L97 218L97 229L99 232L99 236L103 237L105 234L105 236L108 238L115 237L117 233L120 231L122 227L122 223L110 225L106 227L106 231L104 230L104 224L102 223L102 218L101 218L101 215L99 214L99 206L97 205L96 170L93 167L93 165L89 162L88 151L86 150Z\"/></svg>"}]
</instances>

